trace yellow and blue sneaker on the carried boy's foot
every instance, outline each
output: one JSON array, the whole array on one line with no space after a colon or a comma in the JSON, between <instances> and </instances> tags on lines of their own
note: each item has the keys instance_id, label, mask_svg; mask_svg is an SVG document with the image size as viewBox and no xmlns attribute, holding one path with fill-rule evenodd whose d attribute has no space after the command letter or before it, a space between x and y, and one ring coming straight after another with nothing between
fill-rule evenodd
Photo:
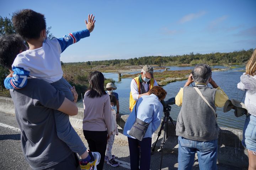
<instances>
[{"instance_id":1,"label":"yellow and blue sneaker on the carried boy's foot","mask_svg":"<svg viewBox=\"0 0 256 170\"><path fill-rule=\"evenodd\" d=\"M80 168L82 170L97 170L97 165L100 163L101 155L98 152L89 152L91 157L90 162L80 161Z\"/></svg>"}]
</instances>

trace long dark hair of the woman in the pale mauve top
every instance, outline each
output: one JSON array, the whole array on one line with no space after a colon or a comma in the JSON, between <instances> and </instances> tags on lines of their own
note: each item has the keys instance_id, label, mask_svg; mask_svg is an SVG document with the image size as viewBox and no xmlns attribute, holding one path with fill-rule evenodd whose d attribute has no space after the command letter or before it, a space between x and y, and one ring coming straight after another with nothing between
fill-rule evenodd
<instances>
[{"instance_id":1,"label":"long dark hair of the woman in the pale mauve top","mask_svg":"<svg viewBox=\"0 0 256 170\"><path fill-rule=\"evenodd\" d=\"M104 76L99 71L91 72L89 75L89 93L87 94L90 98L101 97L107 94L104 90Z\"/></svg>"}]
</instances>

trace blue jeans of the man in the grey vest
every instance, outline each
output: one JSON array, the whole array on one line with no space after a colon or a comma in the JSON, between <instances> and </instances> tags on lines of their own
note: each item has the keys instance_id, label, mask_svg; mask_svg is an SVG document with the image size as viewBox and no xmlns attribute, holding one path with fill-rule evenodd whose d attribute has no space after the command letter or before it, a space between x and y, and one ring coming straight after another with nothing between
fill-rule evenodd
<instances>
[{"instance_id":1,"label":"blue jeans of the man in the grey vest","mask_svg":"<svg viewBox=\"0 0 256 170\"><path fill-rule=\"evenodd\" d=\"M191 170L197 152L199 169L217 170L218 139L201 142L178 137L178 169Z\"/></svg>"}]
</instances>

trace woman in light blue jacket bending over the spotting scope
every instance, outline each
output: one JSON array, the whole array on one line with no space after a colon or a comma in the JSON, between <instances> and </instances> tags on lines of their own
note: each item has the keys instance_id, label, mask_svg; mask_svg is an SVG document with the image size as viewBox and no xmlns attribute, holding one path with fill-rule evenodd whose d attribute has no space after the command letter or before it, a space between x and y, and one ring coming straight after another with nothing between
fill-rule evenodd
<instances>
[{"instance_id":1,"label":"woman in light blue jacket bending over the spotting scope","mask_svg":"<svg viewBox=\"0 0 256 170\"><path fill-rule=\"evenodd\" d=\"M139 98L137 105L135 105L136 109L133 109L126 121L126 124L124 125L123 134L128 137L131 170L138 170L139 165L140 169L150 169L152 135L158 129L161 123L163 106L160 101L164 100L166 94L166 91L162 87L154 86L149 91L149 95L144 95ZM135 110L137 111L138 119L149 123L148 129L142 141L139 141L138 139L135 139L129 135L129 131L136 120ZM141 150L140 157L138 146Z\"/></svg>"}]
</instances>

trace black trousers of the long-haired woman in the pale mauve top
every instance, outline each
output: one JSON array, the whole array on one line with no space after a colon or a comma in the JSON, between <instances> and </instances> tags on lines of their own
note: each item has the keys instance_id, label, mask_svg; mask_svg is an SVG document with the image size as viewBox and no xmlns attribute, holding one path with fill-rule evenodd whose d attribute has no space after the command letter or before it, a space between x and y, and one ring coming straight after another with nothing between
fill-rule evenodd
<instances>
[{"instance_id":1,"label":"black trousers of the long-haired woman in the pale mauve top","mask_svg":"<svg viewBox=\"0 0 256 170\"><path fill-rule=\"evenodd\" d=\"M101 154L100 163L97 165L97 170L102 170L104 165L105 152L107 148L107 131L85 131L84 136L89 145L91 152Z\"/></svg>"}]
</instances>

